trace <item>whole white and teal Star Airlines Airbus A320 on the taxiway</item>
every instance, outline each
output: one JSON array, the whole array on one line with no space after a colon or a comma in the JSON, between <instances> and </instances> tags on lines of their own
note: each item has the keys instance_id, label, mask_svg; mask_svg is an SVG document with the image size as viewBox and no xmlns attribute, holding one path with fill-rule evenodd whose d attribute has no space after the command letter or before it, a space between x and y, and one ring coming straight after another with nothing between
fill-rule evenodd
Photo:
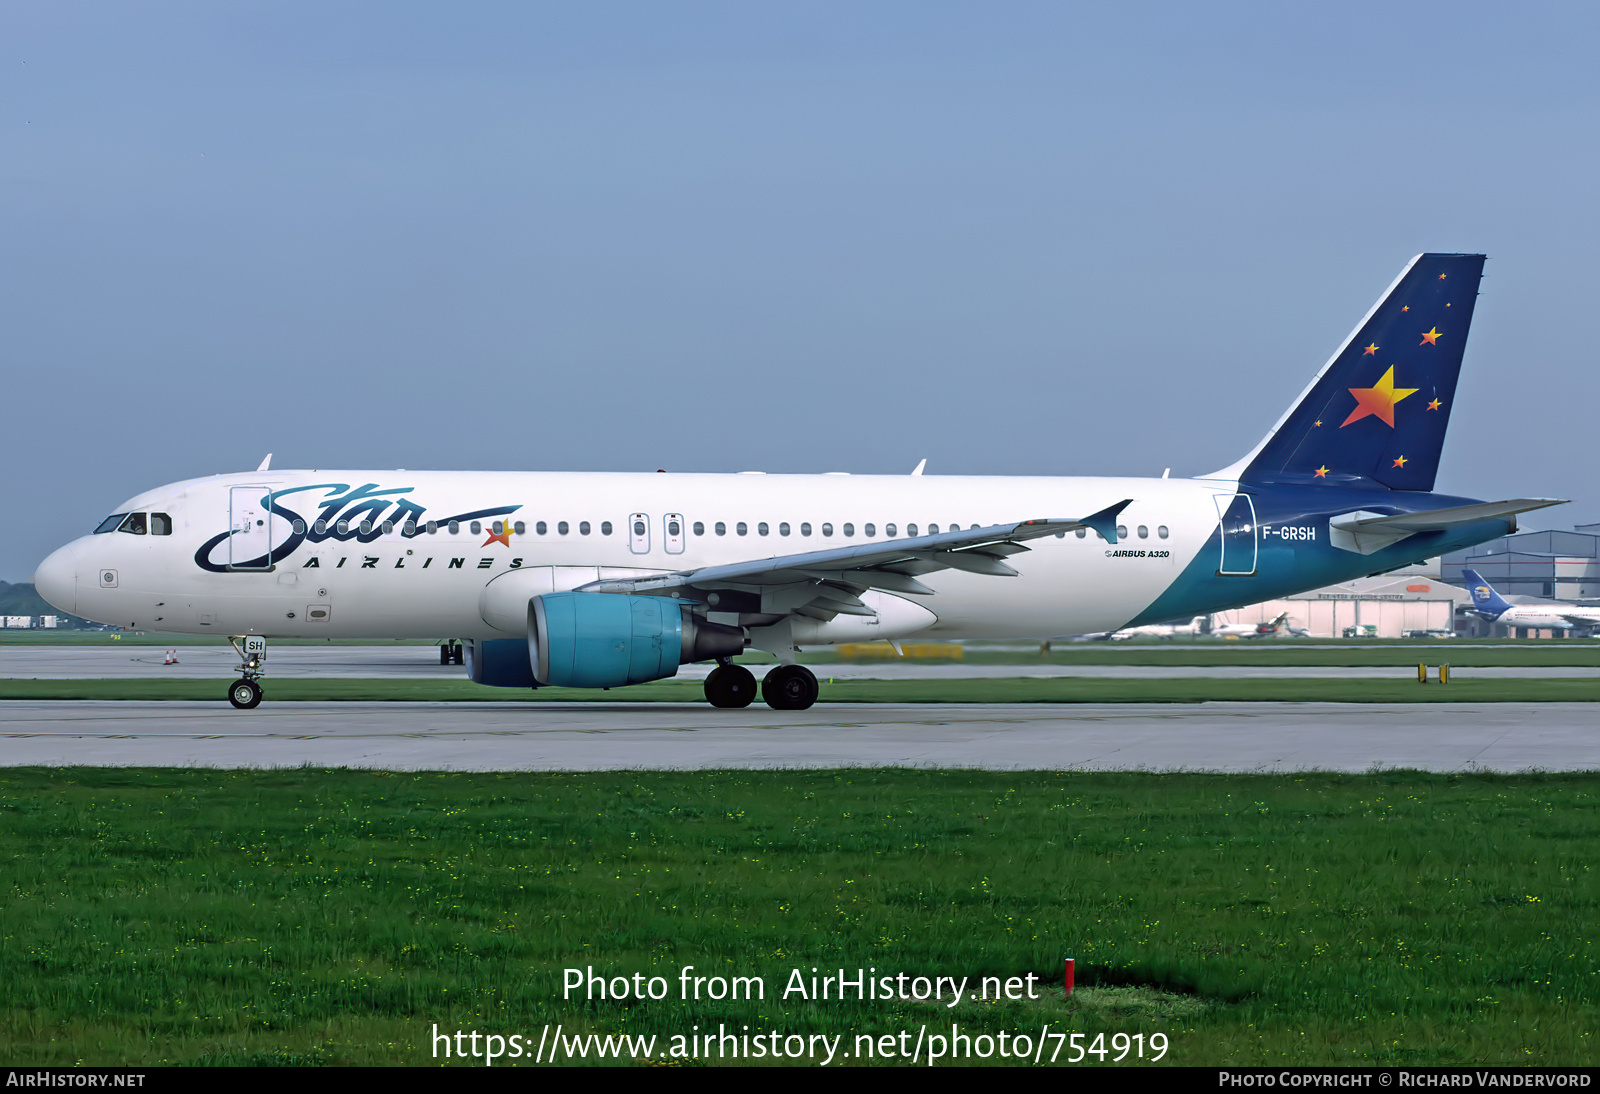
<instances>
[{"instance_id":1,"label":"whole white and teal Star Airlines Airbus A320 on the taxiway","mask_svg":"<svg viewBox=\"0 0 1600 1094\"><path fill-rule=\"evenodd\" d=\"M274 472L160 486L46 558L56 608L243 641L459 637L482 685L810 707L802 646L1045 638L1237 608L1478 544L1547 499L1432 493L1483 272L1421 254L1266 438L1200 478ZM920 469L918 469L920 470Z\"/></svg>"}]
</instances>

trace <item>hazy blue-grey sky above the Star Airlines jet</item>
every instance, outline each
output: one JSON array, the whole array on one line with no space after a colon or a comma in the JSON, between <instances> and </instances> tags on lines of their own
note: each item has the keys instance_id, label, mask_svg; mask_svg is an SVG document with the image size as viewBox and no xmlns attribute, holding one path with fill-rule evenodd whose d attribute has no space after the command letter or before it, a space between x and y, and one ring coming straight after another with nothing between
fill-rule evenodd
<instances>
[{"instance_id":1,"label":"hazy blue-grey sky above the Star Airlines jet","mask_svg":"<svg viewBox=\"0 0 1600 1094\"><path fill-rule=\"evenodd\" d=\"M1594 3L6 3L0 577L267 451L1203 473L1427 250L1490 254L1438 488L1600 520L1597 30Z\"/></svg>"}]
</instances>

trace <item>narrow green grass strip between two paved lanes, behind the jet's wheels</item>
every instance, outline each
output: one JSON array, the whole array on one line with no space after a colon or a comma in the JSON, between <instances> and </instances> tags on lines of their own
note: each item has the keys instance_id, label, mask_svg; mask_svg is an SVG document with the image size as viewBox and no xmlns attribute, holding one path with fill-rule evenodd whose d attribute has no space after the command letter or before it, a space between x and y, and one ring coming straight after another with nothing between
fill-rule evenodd
<instances>
[{"instance_id":1,"label":"narrow green grass strip between two paved lanes, behind the jet's wheels","mask_svg":"<svg viewBox=\"0 0 1600 1094\"><path fill-rule=\"evenodd\" d=\"M824 702L1600 702L1600 678L1472 680L1106 680L1094 677L1011 680L837 680L818 667ZM0 680L5 699L224 701L227 680ZM485 688L467 680L266 678L266 702L704 702L698 680L597 691L586 688Z\"/></svg>"}]
</instances>

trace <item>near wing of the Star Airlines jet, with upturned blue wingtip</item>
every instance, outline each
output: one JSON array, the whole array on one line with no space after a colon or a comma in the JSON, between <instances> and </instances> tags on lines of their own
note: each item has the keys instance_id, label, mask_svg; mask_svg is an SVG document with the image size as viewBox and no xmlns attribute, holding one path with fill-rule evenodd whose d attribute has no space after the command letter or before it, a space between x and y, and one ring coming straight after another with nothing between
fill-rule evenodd
<instances>
[{"instance_id":1,"label":"near wing of the Star Airlines jet, with upturned blue wingtip","mask_svg":"<svg viewBox=\"0 0 1600 1094\"><path fill-rule=\"evenodd\" d=\"M1131 497L1075 520L1024 520L648 577L610 577L582 585L579 592L677 593L722 611L795 613L813 619L874 616L877 613L859 597L867 589L928 597L933 589L917 577L939 569L1014 577L1016 569L1005 558L1029 550L1024 544L1030 539L1091 528L1115 544L1117 515L1130 504Z\"/></svg>"}]
</instances>

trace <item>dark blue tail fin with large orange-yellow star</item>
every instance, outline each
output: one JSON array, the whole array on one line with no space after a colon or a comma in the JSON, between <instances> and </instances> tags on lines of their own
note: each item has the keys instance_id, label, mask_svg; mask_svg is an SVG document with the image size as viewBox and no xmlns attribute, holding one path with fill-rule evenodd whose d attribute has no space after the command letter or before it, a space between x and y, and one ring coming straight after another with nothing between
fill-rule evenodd
<instances>
[{"instance_id":1,"label":"dark blue tail fin with large orange-yellow star","mask_svg":"<svg viewBox=\"0 0 1600 1094\"><path fill-rule=\"evenodd\" d=\"M1254 453L1246 481L1434 489L1482 254L1419 254Z\"/></svg>"}]
</instances>

